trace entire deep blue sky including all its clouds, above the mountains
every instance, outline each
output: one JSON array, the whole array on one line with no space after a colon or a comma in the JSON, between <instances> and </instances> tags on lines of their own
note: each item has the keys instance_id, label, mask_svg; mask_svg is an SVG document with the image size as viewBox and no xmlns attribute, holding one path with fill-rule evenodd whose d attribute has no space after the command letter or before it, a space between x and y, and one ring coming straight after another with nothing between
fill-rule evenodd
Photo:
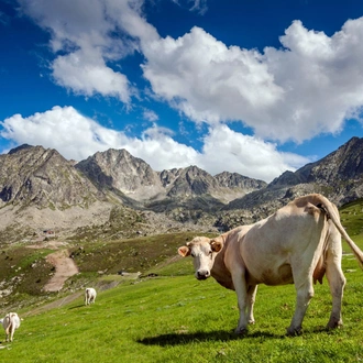
<instances>
[{"instance_id":1,"label":"entire deep blue sky including all its clouds, above the mountains","mask_svg":"<svg viewBox=\"0 0 363 363\"><path fill-rule=\"evenodd\" d=\"M363 2L2 0L0 153L271 182L363 136Z\"/></svg>"}]
</instances>

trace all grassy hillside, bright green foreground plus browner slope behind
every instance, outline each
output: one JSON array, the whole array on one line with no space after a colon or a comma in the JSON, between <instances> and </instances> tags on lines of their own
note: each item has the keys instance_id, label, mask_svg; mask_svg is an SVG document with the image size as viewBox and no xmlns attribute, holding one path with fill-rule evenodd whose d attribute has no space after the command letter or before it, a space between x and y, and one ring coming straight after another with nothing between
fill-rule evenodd
<instances>
[{"instance_id":1,"label":"all grassy hillside, bright green foreground plus browner slope behind","mask_svg":"<svg viewBox=\"0 0 363 363\"><path fill-rule=\"evenodd\" d=\"M344 206L343 226L363 249L363 202ZM198 282L190 258L176 249L193 233L163 234L103 243L69 241L80 273L59 293L44 293L52 274L46 249L3 248L0 278L15 288L1 299L1 314L23 318L12 343L1 337L1 362L359 362L363 360L363 272L343 245L346 287L344 327L326 331L331 310L327 280L316 285L304 320L304 334L285 337L295 309L293 285L261 285L256 323L245 337L233 330L237 297L213 279ZM141 277L120 272L141 272ZM21 276L22 275L22 276ZM19 283L16 283L19 279ZM85 306L86 285L98 289ZM112 288L110 288L112 287ZM47 301L47 302L46 302ZM46 302L46 304L45 304ZM3 336L4 337L4 336Z\"/></svg>"}]
</instances>

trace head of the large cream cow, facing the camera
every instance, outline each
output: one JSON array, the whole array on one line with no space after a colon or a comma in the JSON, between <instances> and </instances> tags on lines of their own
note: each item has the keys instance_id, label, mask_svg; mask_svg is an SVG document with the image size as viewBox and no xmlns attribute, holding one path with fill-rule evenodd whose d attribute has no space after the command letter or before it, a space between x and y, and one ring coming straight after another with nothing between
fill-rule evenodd
<instances>
[{"instance_id":1,"label":"head of the large cream cow, facing the camera","mask_svg":"<svg viewBox=\"0 0 363 363\"><path fill-rule=\"evenodd\" d=\"M196 277L206 279L210 276L210 271L213 267L216 256L223 248L221 237L208 239L207 237L196 237L193 241L178 249L180 256L191 256Z\"/></svg>"}]
</instances>

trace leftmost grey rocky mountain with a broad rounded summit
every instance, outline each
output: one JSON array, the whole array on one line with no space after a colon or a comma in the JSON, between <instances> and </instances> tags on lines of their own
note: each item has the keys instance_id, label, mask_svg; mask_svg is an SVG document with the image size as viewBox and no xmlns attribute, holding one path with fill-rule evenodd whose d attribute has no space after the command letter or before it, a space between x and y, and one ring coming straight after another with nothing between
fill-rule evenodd
<instances>
[{"instance_id":1,"label":"leftmost grey rocky mountain with a broad rounded summit","mask_svg":"<svg viewBox=\"0 0 363 363\"><path fill-rule=\"evenodd\" d=\"M87 207L105 195L55 150L22 145L0 155L0 207Z\"/></svg>"}]
</instances>

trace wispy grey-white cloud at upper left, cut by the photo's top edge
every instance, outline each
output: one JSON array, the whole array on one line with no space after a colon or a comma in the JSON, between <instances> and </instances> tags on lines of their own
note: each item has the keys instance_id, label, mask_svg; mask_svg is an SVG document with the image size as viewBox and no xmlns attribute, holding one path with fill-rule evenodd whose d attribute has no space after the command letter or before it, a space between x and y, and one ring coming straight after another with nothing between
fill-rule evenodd
<instances>
[{"instance_id":1,"label":"wispy grey-white cloud at upper left, cut by the photo's top edge","mask_svg":"<svg viewBox=\"0 0 363 363\"><path fill-rule=\"evenodd\" d=\"M56 84L78 95L131 102L135 89L114 65L139 48L135 37L157 36L139 14L142 1L19 2L22 12L51 34L55 58L50 68Z\"/></svg>"}]
</instances>

